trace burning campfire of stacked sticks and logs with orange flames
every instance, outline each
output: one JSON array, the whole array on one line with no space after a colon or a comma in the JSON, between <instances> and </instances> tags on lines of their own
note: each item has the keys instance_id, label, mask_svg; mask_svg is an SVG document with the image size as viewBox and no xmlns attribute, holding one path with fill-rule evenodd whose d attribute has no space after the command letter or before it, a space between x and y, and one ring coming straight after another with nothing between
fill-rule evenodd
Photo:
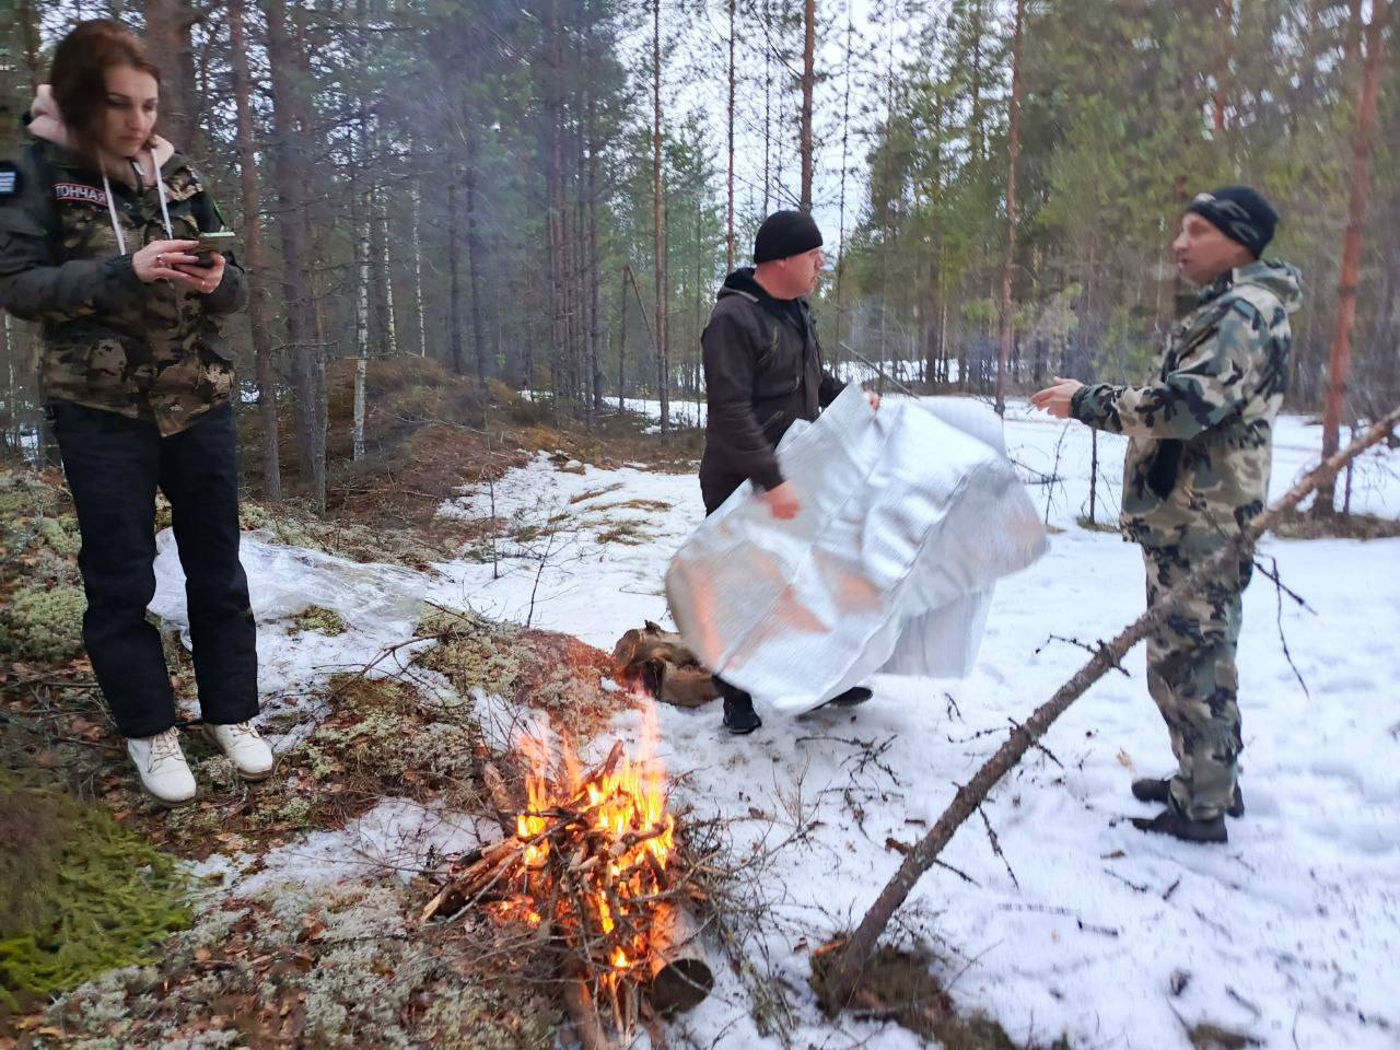
<instances>
[{"instance_id":1,"label":"burning campfire of stacked sticks and logs with orange flames","mask_svg":"<svg viewBox=\"0 0 1400 1050\"><path fill-rule=\"evenodd\" d=\"M640 760L619 741L591 770L567 746L556 757L542 738L522 736L524 809L511 805L494 767L486 771L497 808L515 811L514 833L454 865L423 911L427 920L475 903L560 949L566 1000L585 1046L612 1044L599 1018L630 1042L644 1011L686 1009L714 983L675 876L676 820L654 728L645 736Z\"/></svg>"}]
</instances>

